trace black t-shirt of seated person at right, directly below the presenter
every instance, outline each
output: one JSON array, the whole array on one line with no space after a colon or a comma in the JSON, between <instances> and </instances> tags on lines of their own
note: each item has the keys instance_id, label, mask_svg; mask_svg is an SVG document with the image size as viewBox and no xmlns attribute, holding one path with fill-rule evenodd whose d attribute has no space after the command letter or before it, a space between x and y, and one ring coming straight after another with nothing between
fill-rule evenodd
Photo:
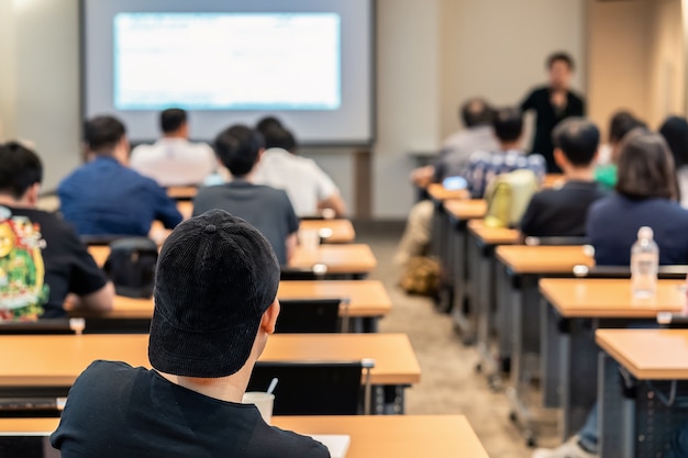
<instances>
[{"instance_id":1,"label":"black t-shirt of seated person at right, directly below the presenter","mask_svg":"<svg viewBox=\"0 0 688 458\"><path fill-rule=\"evenodd\" d=\"M521 232L533 237L584 237L588 208L604 196L595 181L572 180L562 189L540 191L521 219Z\"/></svg>"}]
</instances>

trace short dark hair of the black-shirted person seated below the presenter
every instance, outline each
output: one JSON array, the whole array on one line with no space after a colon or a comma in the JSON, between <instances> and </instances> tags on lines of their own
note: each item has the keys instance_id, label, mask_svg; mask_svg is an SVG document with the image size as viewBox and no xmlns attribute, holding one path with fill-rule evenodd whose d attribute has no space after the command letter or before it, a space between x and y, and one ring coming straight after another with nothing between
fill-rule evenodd
<instances>
[{"instance_id":1,"label":"short dark hair of the black-shirted person seated below the presenter","mask_svg":"<svg viewBox=\"0 0 688 458\"><path fill-rule=\"evenodd\" d=\"M587 167L595 159L600 145L600 130L582 118L569 118L554 129L552 139L569 163Z\"/></svg>"}]
</instances>

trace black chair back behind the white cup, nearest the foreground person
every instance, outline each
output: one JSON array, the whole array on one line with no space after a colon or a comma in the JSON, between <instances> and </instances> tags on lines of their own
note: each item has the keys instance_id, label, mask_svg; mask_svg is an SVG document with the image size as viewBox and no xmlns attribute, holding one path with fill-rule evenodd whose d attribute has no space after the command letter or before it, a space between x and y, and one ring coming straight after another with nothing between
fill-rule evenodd
<instances>
[{"instance_id":1,"label":"black chair back behind the white cup, nearest the foreground person","mask_svg":"<svg viewBox=\"0 0 688 458\"><path fill-rule=\"evenodd\" d=\"M247 391L265 391L277 378L275 415L357 415L370 412L371 359L349 362L258 361Z\"/></svg>"}]
</instances>

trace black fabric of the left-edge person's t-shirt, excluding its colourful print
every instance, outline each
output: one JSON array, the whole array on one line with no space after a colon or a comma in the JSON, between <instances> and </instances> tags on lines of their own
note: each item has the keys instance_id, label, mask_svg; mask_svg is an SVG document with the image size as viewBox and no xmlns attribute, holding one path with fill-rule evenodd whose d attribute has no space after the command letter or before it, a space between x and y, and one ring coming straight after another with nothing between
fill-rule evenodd
<instances>
[{"instance_id":1,"label":"black fabric of the left-edge person's t-shirt, excluding its colourful print","mask_svg":"<svg viewBox=\"0 0 688 458\"><path fill-rule=\"evenodd\" d=\"M8 208L12 216L25 216L37 224L45 248L45 284L49 288L43 317L65 316L63 304L68 293L90 294L106 286L108 279L98 267L75 230L52 213L34 209Z\"/></svg>"}]
</instances>

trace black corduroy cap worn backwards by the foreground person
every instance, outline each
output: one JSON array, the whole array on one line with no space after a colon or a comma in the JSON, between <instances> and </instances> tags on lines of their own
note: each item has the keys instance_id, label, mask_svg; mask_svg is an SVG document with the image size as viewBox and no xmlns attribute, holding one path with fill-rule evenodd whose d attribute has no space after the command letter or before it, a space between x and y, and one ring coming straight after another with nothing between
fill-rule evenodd
<instances>
[{"instance_id":1,"label":"black corduroy cap worn backwards by the foreground person","mask_svg":"<svg viewBox=\"0 0 688 458\"><path fill-rule=\"evenodd\" d=\"M211 210L179 224L157 262L151 365L182 377L237 372L275 301L279 275L269 242L244 220Z\"/></svg>"}]
</instances>

